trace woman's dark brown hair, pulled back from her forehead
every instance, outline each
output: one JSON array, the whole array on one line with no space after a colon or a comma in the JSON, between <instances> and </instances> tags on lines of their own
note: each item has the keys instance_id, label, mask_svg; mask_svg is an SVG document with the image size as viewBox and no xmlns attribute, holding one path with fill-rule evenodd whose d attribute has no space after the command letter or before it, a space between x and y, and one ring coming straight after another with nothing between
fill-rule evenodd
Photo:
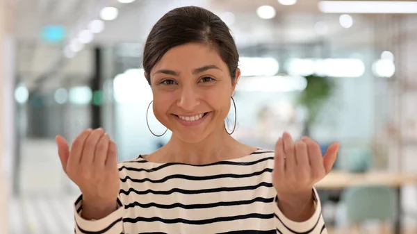
<instances>
[{"instance_id":1,"label":"woman's dark brown hair, pulled back from her forehead","mask_svg":"<svg viewBox=\"0 0 417 234\"><path fill-rule=\"evenodd\" d=\"M149 85L151 69L167 51L190 42L208 44L218 51L236 78L239 54L229 27L222 19L204 8L186 6L167 12L149 33L143 51L143 68Z\"/></svg>"}]
</instances>

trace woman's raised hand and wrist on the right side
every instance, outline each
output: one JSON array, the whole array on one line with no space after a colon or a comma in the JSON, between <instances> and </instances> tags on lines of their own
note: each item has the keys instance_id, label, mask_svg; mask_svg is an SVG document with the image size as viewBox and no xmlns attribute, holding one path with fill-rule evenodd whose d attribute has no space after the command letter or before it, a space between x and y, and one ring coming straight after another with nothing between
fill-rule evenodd
<instances>
[{"instance_id":1,"label":"woman's raised hand and wrist on the right side","mask_svg":"<svg viewBox=\"0 0 417 234\"><path fill-rule=\"evenodd\" d=\"M311 138L293 142L291 135L284 133L275 146L272 172L279 201L295 206L311 201L313 185L330 172L338 149L339 144L333 143L322 156L320 145Z\"/></svg>"}]
</instances>

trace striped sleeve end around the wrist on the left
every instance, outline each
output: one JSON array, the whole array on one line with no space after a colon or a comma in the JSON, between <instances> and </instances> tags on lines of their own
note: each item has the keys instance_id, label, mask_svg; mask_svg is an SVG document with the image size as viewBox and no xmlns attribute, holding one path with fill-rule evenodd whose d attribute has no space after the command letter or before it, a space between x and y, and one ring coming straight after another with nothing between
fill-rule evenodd
<instances>
[{"instance_id":1,"label":"striped sleeve end around the wrist on the left","mask_svg":"<svg viewBox=\"0 0 417 234\"><path fill-rule=\"evenodd\" d=\"M75 234L120 234L124 233L122 217L124 206L120 198L117 198L117 210L107 217L99 220L86 220L81 217L83 196L81 195L74 203Z\"/></svg>"}]
</instances>

